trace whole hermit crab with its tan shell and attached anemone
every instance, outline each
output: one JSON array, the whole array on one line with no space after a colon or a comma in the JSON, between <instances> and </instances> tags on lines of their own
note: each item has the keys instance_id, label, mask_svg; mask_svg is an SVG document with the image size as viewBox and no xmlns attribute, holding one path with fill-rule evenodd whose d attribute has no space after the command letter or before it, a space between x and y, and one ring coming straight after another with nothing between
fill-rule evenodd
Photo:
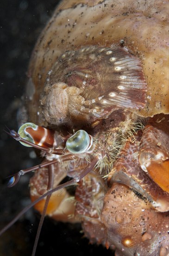
<instances>
[{"instance_id":1,"label":"whole hermit crab with its tan shell and attached anemone","mask_svg":"<svg viewBox=\"0 0 169 256\"><path fill-rule=\"evenodd\" d=\"M168 1L61 2L31 56L27 121L7 130L41 150L42 164L8 183L36 170L40 225L45 214L81 222L117 256L169 254L167 11Z\"/></svg>"}]
</instances>

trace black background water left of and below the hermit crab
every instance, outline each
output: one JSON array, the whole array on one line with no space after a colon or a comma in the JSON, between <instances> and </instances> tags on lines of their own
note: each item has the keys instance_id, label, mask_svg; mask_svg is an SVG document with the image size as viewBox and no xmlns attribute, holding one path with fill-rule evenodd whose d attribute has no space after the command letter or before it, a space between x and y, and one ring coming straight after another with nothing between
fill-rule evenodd
<instances>
[{"instance_id":1,"label":"black background water left of and below the hermit crab","mask_svg":"<svg viewBox=\"0 0 169 256\"><path fill-rule=\"evenodd\" d=\"M19 183L6 188L6 176L22 168L40 163L33 159L31 148L23 147L3 131L5 125L18 130L17 109L24 92L26 70L33 46L53 13L57 0L1 0L0 1L0 222L8 223L19 210L29 204L28 183L24 175ZM39 215L33 209L22 216L0 237L0 255L31 255L38 227ZM113 255L102 246L89 245L80 233L80 225L45 219L36 255L72 253L83 256L103 253Z\"/></svg>"}]
</instances>

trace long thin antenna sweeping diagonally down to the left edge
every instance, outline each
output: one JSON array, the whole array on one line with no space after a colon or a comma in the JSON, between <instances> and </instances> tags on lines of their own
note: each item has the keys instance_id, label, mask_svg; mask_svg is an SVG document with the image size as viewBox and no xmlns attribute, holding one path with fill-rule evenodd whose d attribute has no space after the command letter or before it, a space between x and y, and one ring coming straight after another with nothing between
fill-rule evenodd
<instances>
[{"instance_id":1,"label":"long thin antenna sweeping diagonally down to the left edge","mask_svg":"<svg viewBox=\"0 0 169 256\"><path fill-rule=\"evenodd\" d=\"M55 189L50 189L47 193L36 199L34 202L31 202L27 207L25 207L22 211L19 212L19 214L11 221L9 222L3 229L0 230L0 236L7 230L9 229L27 210L31 209L36 203L41 201L44 197L51 195L55 191L59 189L66 188L68 186L74 185L75 183L79 182L84 176L86 176L97 164L99 161L99 156L93 158L91 162L88 164L88 166L79 174L76 175L71 181L65 182L64 184L61 184L57 186Z\"/></svg>"}]
</instances>

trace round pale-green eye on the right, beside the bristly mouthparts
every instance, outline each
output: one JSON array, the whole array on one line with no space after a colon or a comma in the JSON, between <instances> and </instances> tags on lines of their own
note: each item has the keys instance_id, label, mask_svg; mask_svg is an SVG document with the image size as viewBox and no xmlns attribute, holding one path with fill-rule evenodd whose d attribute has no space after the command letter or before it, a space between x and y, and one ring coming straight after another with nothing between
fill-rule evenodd
<instances>
[{"instance_id":1,"label":"round pale-green eye on the right, beside the bristly mouthparts","mask_svg":"<svg viewBox=\"0 0 169 256\"><path fill-rule=\"evenodd\" d=\"M71 153L84 153L91 148L92 143L92 136L84 130L79 130L66 141L66 148Z\"/></svg>"}]
</instances>

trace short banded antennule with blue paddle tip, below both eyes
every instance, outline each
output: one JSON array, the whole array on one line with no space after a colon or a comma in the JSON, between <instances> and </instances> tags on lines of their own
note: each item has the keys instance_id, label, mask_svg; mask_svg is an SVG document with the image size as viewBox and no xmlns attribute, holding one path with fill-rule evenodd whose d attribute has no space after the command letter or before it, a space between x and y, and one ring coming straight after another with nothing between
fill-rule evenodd
<instances>
[{"instance_id":1,"label":"short banded antennule with blue paddle tip, below both eyes","mask_svg":"<svg viewBox=\"0 0 169 256\"><path fill-rule=\"evenodd\" d=\"M70 160L73 160L73 157L74 155L73 154L68 154L68 155L62 155L60 156L59 158L57 159L53 159L51 161L48 161L48 162L44 162L40 165L36 165L36 166L33 166L33 167L30 167L30 168L27 168L27 169L24 169L24 170L20 170L18 173L16 173L15 175L13 175L9 182L8 182L8 185L7 187L8 188L11 188L13 187L14 185L16 185L18 182L19 182L19 179L20 179L20 176L21 175L24 175L25 173L28 173L28 172L31 172L31 171L34 171L34 170L37 170L39 168L43 168L43 167L46 167L46 166L49 166L51 164L54 164L56 162L64 162L64 161L70 161Z\"/></svg>"}]
</instances>

